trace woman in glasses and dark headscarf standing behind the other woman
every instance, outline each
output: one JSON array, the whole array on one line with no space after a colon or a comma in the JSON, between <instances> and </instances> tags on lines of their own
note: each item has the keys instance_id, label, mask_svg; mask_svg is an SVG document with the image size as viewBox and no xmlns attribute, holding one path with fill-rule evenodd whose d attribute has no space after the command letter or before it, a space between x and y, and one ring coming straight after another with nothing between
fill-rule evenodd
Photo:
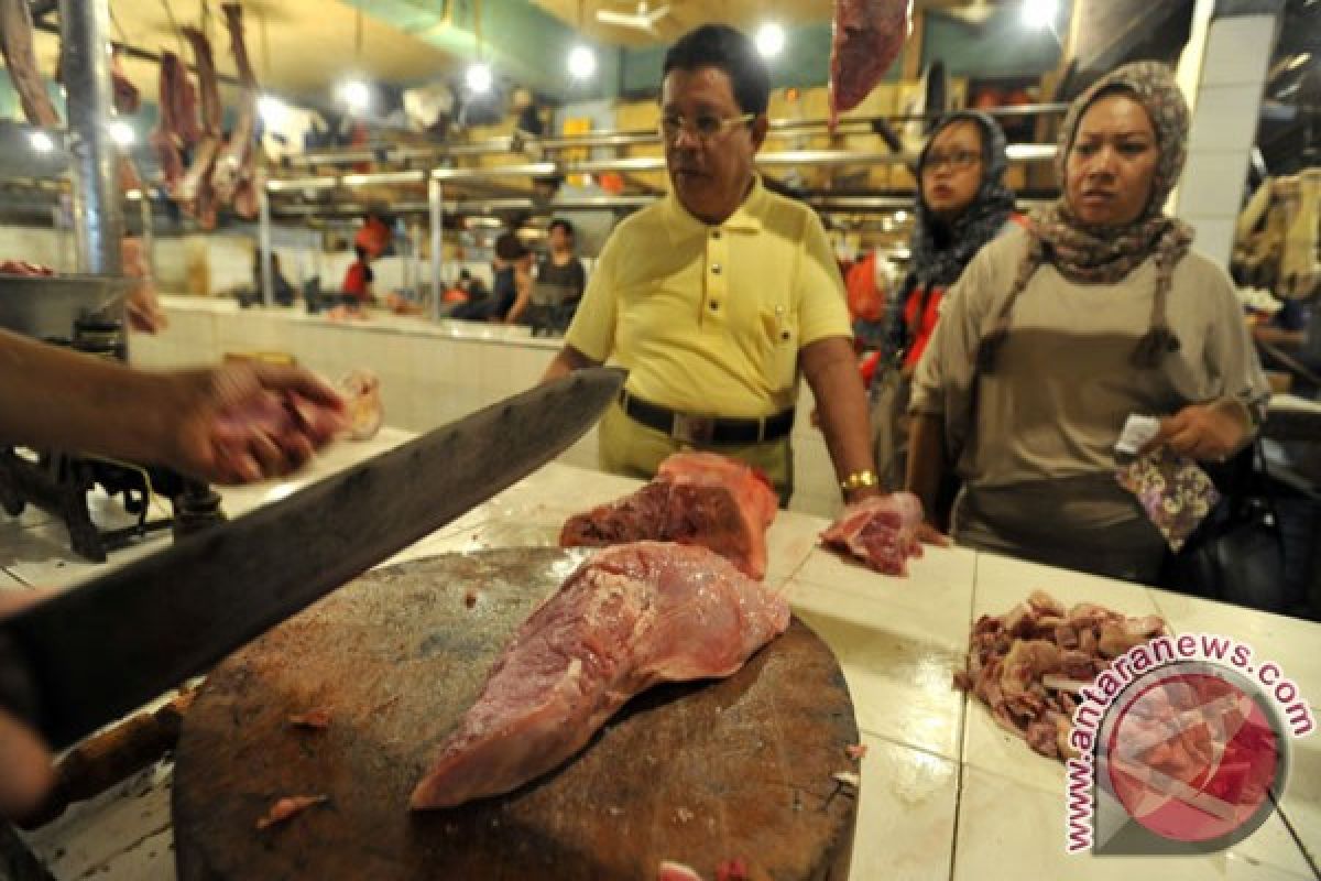
<instances>
[{"instance_id":1,"label":"woman in glasses and dark headscarf standing behind the other woman","mask_svg":"<svg viewBox=\"0 0 1321 881\"><path fill-rule=\"evenodd\" d=\"M1013 193L1004 132L978 111L937 123L918 155L919 182L909 239L909 272L889 299L872 376L872 429L877 474L886 489L906 479L909 386L941 316L945 292L970 260L1011 229ZM948 506L938 498L937 520Z\"/></svg>"}]
</instances>

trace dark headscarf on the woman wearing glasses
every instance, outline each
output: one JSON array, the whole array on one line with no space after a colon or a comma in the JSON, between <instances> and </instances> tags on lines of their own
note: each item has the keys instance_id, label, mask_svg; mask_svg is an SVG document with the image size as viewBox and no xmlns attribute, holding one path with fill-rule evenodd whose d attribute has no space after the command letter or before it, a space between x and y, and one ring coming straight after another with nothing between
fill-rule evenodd
<instances>
[{"instance_id":1,"label":"dark headscarf on the woman wearing glasses","mask_svg":"<svg viewBox=\"0 0 1321 881\"><path fill-rule=\"evenodd\" d=\"M922 197L922 169L935 136L959 122L975 123L982 131L982 186L963 214L954 223L946 225L931 213ZM1004 132L985 114L959 111L937 124L917 160L917 222L909 240L909 265L913 267L913 279L918 285L950 287L959 280L963 267L976 256L982 246L1004 229L1013 211L1013 193L1004 185L1008 165Z\"/></svg>"}]
</instances>

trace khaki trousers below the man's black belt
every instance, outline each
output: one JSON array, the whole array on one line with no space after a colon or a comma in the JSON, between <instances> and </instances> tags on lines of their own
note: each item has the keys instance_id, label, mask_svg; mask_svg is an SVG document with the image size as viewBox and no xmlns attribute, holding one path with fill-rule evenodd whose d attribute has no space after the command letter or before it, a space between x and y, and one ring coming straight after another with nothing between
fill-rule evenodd
<instances>
[{"instance_id":1,"label":"khaki trousers below the man's black belt","mask_svg":"<svg viewBox=\"0 0 1321 881\"><path fill-rule=\"evenodd\" d=\"M660 462L671 454L694 449L630 419L618 402L605 411L598 436L601 470L642 479L655 477ZM794 454L787 436L748 446L712 446L707 452L760 468L775 486L779 506L789 505L789 497L794 493Z\"/></svg>"}]
</instances>

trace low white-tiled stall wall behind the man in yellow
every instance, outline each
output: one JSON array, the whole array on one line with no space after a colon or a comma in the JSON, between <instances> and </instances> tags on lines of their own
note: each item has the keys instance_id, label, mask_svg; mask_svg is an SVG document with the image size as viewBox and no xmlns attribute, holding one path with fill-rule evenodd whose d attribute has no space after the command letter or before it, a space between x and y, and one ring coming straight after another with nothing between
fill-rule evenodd
<instances>
[{"instance_id":1,"label":"low white-tiled stall wall behind the man in yellow","mask_svg":"<svg viewBox=\"0 0 1321 881\"><path fill-rule=\"evenodd\" d=\"M169 367L217 363L226 353L283 351L336 379L369 367L380 376L386 423L427 431L532 386L559 343L532 339L523 329L461 322L440 325L410 318L337 324L297 310L238 309L232 302L189 302L166 297L170 325L159 337L135 335L133 363ZM457 334L487 334L490 339ZM834 516L839 510L834 469L820 432L808 421L806 383L794 427L797 491L790 507ZM596 468L596 432L560 461Z\"/></svg>"}]
</instances>

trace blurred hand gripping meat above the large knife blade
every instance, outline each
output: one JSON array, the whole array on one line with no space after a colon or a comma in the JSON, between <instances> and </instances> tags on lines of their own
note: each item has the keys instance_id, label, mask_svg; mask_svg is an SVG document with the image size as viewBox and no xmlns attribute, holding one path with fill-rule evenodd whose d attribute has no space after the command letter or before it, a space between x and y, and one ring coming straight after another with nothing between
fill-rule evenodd
<instances>
[{"instance_id":1,"label":"blurred hand gripping meat above the large knife blade","mask_svg":"<svg viewBox=\"0 0 1321 881\"><path fill-rule=\"evenodd\" d=\"M173 465L219 483L288 474L347 428L343 400L312 374L226 365L174 374Z\"/></svg>"}]
</instances>

